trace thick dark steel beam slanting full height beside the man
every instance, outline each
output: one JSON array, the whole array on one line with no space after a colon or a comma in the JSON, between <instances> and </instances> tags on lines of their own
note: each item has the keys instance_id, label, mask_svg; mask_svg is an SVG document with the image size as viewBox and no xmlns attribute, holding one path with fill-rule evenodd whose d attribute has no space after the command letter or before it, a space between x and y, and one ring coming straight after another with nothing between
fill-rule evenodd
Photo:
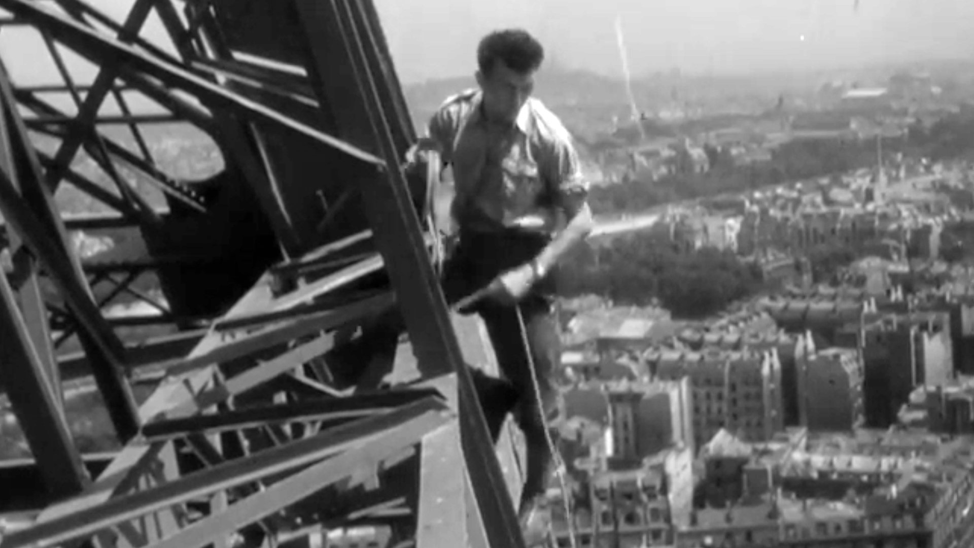
<instances>
[{"instance_id":1,"label":"thick dark steel beam slanting full height beside the man","mask_svg":"<svg viewBox=\"0 0 974 548\"><path fill-rule=\"evenodd\" d=\"M364 210L386 258L413 350L424 376L456 372L459 383L463 448L474 498L494 547L524 546L524 538L506 492L473 379L443 299L430 257L421 242L421 226L400 165L386 108L373 81L365 53L377 49L375 36L359 33L368 0L292 0L307 40L308 71L321 102L340 104L339 125L355 142L375 142L390 169L362 174ZM349 83L355 83L349 86ZM367 121L367 124L363 124Z\"/></svg>"}]
</instances>

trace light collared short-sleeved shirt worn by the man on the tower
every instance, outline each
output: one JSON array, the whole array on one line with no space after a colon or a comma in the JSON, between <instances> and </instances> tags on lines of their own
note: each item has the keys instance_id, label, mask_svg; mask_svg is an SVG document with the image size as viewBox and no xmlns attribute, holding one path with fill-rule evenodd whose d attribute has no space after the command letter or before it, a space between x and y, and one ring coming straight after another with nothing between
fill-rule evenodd
<instances>
[{"instance_id":1,"label":"light collared short-sleeved shirt worn by the man on the tower","mask_svg":"<svg viewBox=\"0 0 974 548\"><path fill-rule=\"evenodd\" d=\"M452 165L452 211L461 227L513 226L553 209L574 215L588 182L561 120L529 98L512 126L499 126L484 118L481 97L470 90L448 98L429 127L442 160Z\"/></svg>"}]
</instances>

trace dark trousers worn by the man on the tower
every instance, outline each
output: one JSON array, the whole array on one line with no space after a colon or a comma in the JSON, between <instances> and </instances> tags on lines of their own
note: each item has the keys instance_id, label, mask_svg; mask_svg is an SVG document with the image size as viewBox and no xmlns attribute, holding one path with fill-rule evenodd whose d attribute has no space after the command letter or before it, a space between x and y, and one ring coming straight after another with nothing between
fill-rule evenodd
<instances>
[{"instance_id":1,"label":"dark trousers worn by the man on the tower","mask_svg":"<svg viewBox=\"0 0 974 548\"><path fill-rule=\"evenodd\" d=\"M443 269L447 302L452 304L473 294L499 274L530 261L546 243L538 235L523 233L463 233L460 247ZM508 412L513 413L524 433L524 502L543 494L551 471L552 454L545 429L558 412L554 375L561 360L554 290L553 277L548 277L516 305L485 300L467 311L483 319L503 375L503 382L498 383L474 374L491 435L496 442Z\"/></svg>"}]
</instances>

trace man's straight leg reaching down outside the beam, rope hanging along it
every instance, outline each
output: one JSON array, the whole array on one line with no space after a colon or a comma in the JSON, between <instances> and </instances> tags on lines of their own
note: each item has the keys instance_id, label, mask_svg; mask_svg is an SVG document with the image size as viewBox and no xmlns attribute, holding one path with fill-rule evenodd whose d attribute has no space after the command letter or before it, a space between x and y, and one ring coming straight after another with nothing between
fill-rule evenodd
<instances>
[{"instance_id":1,"label":"man's straight leg reaching down outside the beam, rope hanging along it","mask_svg":"<svg viewBox=\"0 0 974 548\"><path fill-rule=\"evenodd\" d=\"M524 518L539 502L551 475L553 455L546 430L558 412L554 373L561 359L561 339L548 302L529 297L520 310L518 317L515 307L491 306L482 316L501 370L518 395L515 416L527 445L527 477L518 511Z\"/></svg>"}]
</instances>

